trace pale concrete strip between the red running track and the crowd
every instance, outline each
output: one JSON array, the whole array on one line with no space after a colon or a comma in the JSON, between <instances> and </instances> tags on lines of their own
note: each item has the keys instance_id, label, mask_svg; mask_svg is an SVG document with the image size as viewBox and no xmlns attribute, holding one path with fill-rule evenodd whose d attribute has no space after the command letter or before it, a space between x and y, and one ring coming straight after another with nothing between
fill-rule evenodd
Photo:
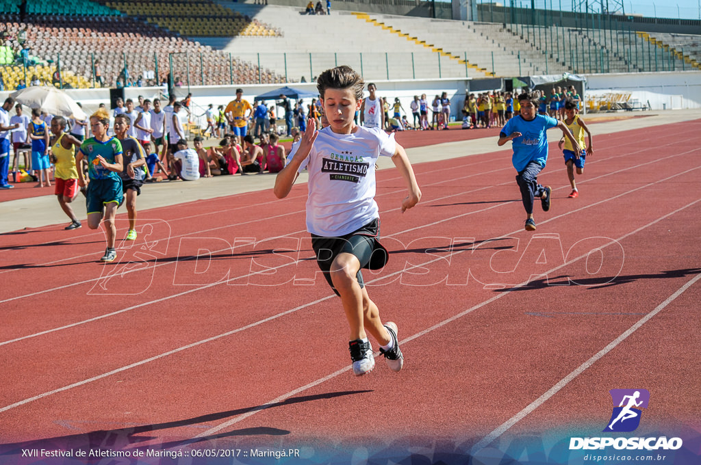
<instances>
[{"instance_id":1,"label":"pale concrete strip between the red running track and the crowd","mask_svg":"<svg viewBox=\"0 0 701 465\"><path fill-rule=\"evenodd\" d=\"M625 113L628 116L630 113ZM636 116L646 116L645 118L630 118L627 120L611 120L606 123L597 123L590 126L594 138L597 134L611 134L627 130L639 129L641 127L657 127L670 123L681 123L682 121L695 120L701 118L701 110L667 110L635 113ZM586 120L597 120L605 117L622 116L622 113L602 113L585 116ZM557 140L557 134L551 135L551 141ZM407 153L411 163L416 165L423 162L435 162L437 160L447 160L480 153L491 153L505 151L510 148L510 144L499 147L496 144L496 137L485 137L483 139L473 139L470 141L449 142L431 146L430 151L425 147L409 148ZM595 147L596 148L596 147ZM379 162L380 169L393 168L393 163L389 159L383 158ZM299 176L297 183L307 181L306 173ZM200 179L194 182L164 182L160 184L147 185L139 196L138 208L140 214L147 209L166 207L168 205L193 202L195 200L211 199L226 195L236 195L257 190L272 189L275 183L274 174L250 174L248 176L220 176L211 179ZM0 194L1 198L1 194ZM74 209L81 221L86 218L85 201L79 194L74 202ZM124 214L122 207L119 214ZM60 209L55 195L45 195L42 197L31 197L27 199L11 200L0 202L0 233L21 230L24 228L39 228L45 225L65 223L69 220Z\"/></svg>"}]
</instances>

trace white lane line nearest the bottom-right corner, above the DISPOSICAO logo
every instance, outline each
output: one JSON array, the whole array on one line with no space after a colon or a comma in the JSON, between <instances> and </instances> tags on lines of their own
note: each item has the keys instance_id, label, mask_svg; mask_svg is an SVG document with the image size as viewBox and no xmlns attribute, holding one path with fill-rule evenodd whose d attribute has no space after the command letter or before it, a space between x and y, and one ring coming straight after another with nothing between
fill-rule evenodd
<instances>
[{"instance_id":1,"label":"white lane line nearest the bottom-right corner, above the DISPOSICAO logo","mask_svg":"<svg viewBox=\"0 0 701 465\"><path fill-rule=\"evenodd\" d=\"M670 303L674 302L676 298L681 296L681 294L689 289L693 284L695 284L699 279L701 279L701 275L696 275L692 279L690 279L686 284L681 286L679 289L676 290L675 293L672 294L672 296L669 296L664 302L662 302L660 305L655 307L655 310L652 312L646 314L644 317L639 319L636 324L631 326L630 328L625 331L625 333L622 333L618 338L615 338L613 341L611 341L606 347L601 349L597 354L592 356L591 359L585 361L582 363L580 366L578 366L575 370L573 370L569 375L566 377L562 378L562 380L559 380L557 384L555 384L553 387L548 389L545 394L542 396L538 397L535 401L531 402L529 405L526 406L523 410L518 412L516 415L508 419L506 422L501 424L497 429L489 433L487 436L484 436L482 440L479 441L479 443L475 444L472 447L472 450L470 450L470 455L474 455L479 450L482 450L484 447L487 445L491 444L496 438L501 436L503 433L508 431L512 426L517 424L519 421L524 419L526 415L529 415L529 413L533 412L533 410L536 410L536 408L540 407L540 405L543 405L545 401L550 399L552 396L557 394L560 389L564 388L569 382L574 380L576 377L578 377L580 374L583 373L584 370L592 366L594 363L596 363L601 357L604 355L608 354L608 352L611 352L613 349L615 349L616 346L618 346L621 342L623 342L629 335L634 333L638 328L646 324L647 321L649 321L652 317L654 317L656 314L660 313L667 305Z\"/></svg>"}]
</instances>

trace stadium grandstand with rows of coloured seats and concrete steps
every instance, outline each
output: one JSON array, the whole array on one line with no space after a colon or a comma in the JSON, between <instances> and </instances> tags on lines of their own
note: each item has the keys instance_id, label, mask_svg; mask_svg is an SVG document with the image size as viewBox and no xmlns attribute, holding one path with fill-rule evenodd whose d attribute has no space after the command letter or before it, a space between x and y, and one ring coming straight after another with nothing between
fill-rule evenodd
<instances>
[{"instance_id":1,"label":"stadium grandstand with rows of coloured seats and concrete steps","mask_svg":"<svg viewBox=\"0 0 701 465\"><path fill-rule=\"evenodd\" d=\"M388 80L701 69L699 20L552 11L545 1L468 2L466 11L449 2L334 1L328 15L303 14L300 0L259 3L0 0L1 84L283 83L341 63ZM334 34L349 39L339 47L327 40Z\"/></svg>"}]
</instances>

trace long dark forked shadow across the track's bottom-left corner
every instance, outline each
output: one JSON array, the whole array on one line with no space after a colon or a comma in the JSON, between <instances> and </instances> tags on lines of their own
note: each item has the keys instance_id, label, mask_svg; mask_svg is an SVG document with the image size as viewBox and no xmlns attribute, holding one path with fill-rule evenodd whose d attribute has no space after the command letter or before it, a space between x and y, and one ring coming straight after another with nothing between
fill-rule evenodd
<instances>
[{"instance_id":1,"label":"long dark forked shadow across the track's bottom-left corner","mask_svg":"<svg viewBox=\"0 0 701 465\"><path fill-rule=\"evenodd\" d=\"M180 428L188 426L201 430L203 428L210 428L214 426L210 425L209 423L222 422L222 420L231 419L232 417L236 417L237 415L258 412L260 410L267 410L268 408L284 407L285 405L294 405L296 403L322 401L325 399L332 399L343 396L353 396L355 394L365 394L367 392L372 392L372 390L366 389L362 391L338 391L327 392L325 394L315 394L313 396L290 397L285 399L285 401L281 402L266 403L262 405L255 405L253 407L228 410L226 412L211 413L208 415L201 415L200 417L176 420L173 422L146 424L142 426L130 426L128 428L121 429L90 431L88 433L79 433L69 436L57 436L55 438L29 440L20 443L0 444L0 457L6 455L19 455L22 453L22 450L27 449L89 450L107 448L110 450L122 450L125 448L131 448L130 446L133 445L145 443L147 441L158 440L158 436L148 434L151 431L159 431L163 429ZM76 422L76 427L79 427L79 422ZM186 436L187 434L188 433L184 433L183 436ZM162 443L158 445L149 444L148 446L144 445L144 447L153 448L154 446L156 446L165 449L168 447L183 447L193 443L200 443L210 439L225 438L229 436L284 436L287 434L290 434L290 431L287 431L285 429L258 426L254 428L243 428L235 431L227 431L226 433L205 436L203 438L192 438L180 441L172 441L170 443ZM191 436L194 436L194 434L191 434Z\"/></svg>"}]
</instances>

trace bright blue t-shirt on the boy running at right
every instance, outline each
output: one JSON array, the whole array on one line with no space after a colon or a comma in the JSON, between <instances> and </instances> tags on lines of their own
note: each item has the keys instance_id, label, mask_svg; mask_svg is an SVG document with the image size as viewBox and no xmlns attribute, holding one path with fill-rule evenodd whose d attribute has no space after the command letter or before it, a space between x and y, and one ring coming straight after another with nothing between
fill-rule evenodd
<instances>
[{"instance_id":1,"label":"bright blue t-shirt on the boy running at right","mask_svg":"<svg viewBox=\"0 0 701 465\"><path fill-rule=\"evenodd\" d=\"M536 115L533 120L526 121L521 115L508 120L501 130L501 136L506 137L512 132L520 132L521 136L512 140L514 155L511 162L517 172L522 172L530 162L538 162L545 167L547 162L547 135L545 131L557 127L557 120L550 116Z\"/></svg>"}]
</instances>

